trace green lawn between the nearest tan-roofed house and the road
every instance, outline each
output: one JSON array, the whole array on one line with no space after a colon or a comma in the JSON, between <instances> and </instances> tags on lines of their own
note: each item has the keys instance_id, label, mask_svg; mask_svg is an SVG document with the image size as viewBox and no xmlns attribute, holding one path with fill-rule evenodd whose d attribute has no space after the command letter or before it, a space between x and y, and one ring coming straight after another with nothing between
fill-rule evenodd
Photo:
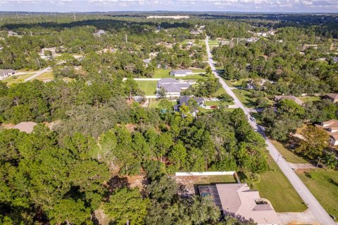
<instances>
[{"instance_id":1,"label":"green lawn between the nearest tan-roofed house and the road","mask_svg":"<svg viewBox=\"0 0 338 225\"><path fill-rule=\"evenodd\" d=\"M268 163L270 168L275 171L260 174L261 182L254 185L261 197L270 200L277 212L303 212L306 210L305 203L270 155L268 155Z\"/></svg>"}]
</instances>

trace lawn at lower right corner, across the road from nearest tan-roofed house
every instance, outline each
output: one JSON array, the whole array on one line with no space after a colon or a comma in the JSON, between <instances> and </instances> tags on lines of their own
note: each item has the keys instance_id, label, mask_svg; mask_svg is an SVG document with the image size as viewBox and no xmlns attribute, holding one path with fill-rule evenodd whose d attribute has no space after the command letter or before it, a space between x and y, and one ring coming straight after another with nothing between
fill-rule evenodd
<instances>
[{"instance_id":1,"label":"lawn at lower right corner, across the road from nearest tan-roofed house","mask_svg":"<svg viewBox=\"0 0 338 225\"><path fill-rule=\"evenodd\" d=\"M309 178L304 173L299 174L299 177L326 212L334 215L338 221L338 171L317 169L317 172L311 173L316 175L315 179Z\"/></svg>"}]
</instances>

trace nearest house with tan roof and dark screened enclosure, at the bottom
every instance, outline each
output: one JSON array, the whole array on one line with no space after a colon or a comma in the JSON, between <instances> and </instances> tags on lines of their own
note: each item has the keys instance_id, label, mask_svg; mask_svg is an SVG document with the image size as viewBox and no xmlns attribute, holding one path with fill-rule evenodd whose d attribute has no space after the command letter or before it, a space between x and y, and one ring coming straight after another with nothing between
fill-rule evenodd
<instances>
[{"instance_id":1,"label":"nearest house with tan roof and dark screened enclosure, at the bottom","mask_svg":"<svg viewBox=\"0 0 338 225\"><path fill-rule=\"evenodd\" d=\"M270 201L247 184L215 184L199 186L201 197L210 196L223 214L237 214L257 224L281 224Z\"/></svg>"}]
</instances>

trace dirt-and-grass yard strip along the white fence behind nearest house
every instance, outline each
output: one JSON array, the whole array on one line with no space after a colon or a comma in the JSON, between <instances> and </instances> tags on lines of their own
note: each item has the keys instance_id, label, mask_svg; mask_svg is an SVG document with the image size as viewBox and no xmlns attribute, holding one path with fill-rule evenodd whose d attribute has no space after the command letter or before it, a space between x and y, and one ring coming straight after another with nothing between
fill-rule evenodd
<instances>
[{"instance_id":1,"label":"dirt-and-grass yard strip along the white fence behind nearest house","mask_svg":"<svg viewBox=\"0 0 338 225\"><path fill-rule=\"evenodd\" d=\"M198 186L201 184L229 184L237 183L232 175L212 175L212 176L175 176L178 183L187 187L190 193L198 193Z\"/></svg>"}]
</instances>

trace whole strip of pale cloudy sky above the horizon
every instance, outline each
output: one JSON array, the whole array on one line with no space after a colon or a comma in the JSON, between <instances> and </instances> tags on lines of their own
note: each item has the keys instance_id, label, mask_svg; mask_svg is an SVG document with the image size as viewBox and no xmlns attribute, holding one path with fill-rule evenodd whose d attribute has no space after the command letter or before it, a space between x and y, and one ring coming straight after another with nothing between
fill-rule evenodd
<instances>
[{"instance_id":1,"label":"whole strip of pale cloudy sky above the horizon","mask_svg":"<svg viewBox=\"0 0 338 225\"><path fill-rule=\"evenodd\" d=\"M338 13L338 0L0 0L0 11L249 11Z\"/></svg>"}]
</instances>

